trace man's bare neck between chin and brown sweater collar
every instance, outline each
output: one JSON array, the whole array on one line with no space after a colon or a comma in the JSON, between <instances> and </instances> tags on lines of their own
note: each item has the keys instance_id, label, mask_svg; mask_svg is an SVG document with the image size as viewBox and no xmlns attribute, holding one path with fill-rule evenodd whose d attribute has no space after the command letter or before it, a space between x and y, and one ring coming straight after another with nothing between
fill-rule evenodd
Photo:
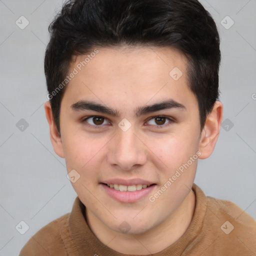
<instances>
[{"instance_id":1,"label":"man's bare neck between chin and brown sweater collar","mask_svg":"<svg viewBox=\"0 0 256 256\"><path fill-rule=\"evenodd\" d=\"M86 220L95 236L111 249L124 254L146 255L159 252L178 240L191 222L194 207L195 195L190 190L173 214L142 234L122 234L113 231L87 209ZM109 237L114 238L109 242Z\"/></svg>"}]
</instances>

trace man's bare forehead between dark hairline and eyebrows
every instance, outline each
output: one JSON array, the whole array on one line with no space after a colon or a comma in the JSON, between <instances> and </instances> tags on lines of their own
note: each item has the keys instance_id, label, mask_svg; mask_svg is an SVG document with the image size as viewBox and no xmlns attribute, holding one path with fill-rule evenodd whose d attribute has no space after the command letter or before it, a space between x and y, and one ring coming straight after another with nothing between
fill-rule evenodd
<instances>
[{"instance_id":1,"label":"man's bare forehead between dark hairline and eyebrows","mask_svg":"<svg viewBox=\"0 0 256 256\"><path fill-rule=\"evenodd\" d=\"M96 52L96 53L95 53ZM73 101L96 100L107 105L163 100L194 100L188 86L187 59L170 47L118 46L95 48L73 57L69 73L74 77L64 97ZM72 102L74 103L74 102Z\"/></svg>"}]
</instances>

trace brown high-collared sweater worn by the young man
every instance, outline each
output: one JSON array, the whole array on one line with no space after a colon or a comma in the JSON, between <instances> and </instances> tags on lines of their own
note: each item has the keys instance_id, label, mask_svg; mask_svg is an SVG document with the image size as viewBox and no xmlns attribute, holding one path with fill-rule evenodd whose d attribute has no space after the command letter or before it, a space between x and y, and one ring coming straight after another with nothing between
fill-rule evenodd
<instances>
[{"instance_id":1,"label":"brown high-collared sweater worn by the young man","mask_svg":"<svg viewBox=\"0 0 256 256\"><path fill-rule=\"evenodd\" d=\"M255 256L256 221L233 202L206 197L193 185L195 211L185 233L154 256ZM85 206L75 198L67 213L37 231L19 256L124 256L91 232Z\"/></svg>"}]
</instances>

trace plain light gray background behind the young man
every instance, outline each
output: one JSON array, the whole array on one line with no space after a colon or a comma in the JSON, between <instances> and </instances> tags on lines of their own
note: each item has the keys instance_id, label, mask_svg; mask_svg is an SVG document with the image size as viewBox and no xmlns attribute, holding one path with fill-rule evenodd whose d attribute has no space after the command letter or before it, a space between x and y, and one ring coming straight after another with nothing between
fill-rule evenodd
<instances>
[{"instance_id":1,"label":"plain light gray background behind the young man","mask_svg":"<svg viewBox=\"0 0 256 256\"><path fill-rule=\"evenodd\" d=\"M223 120L229 119L223 126L228 124L229 130L221 127L213 154L199 160L195 183L206 195L231 200L256 218L256 0L201 3L213 15L221 37L220 100ZM17 255L39 228L70 212L76 197L64 160L52 149L43 109L47 27L61 4L62 0L0 0L0 255L4 256ZM21 15L29 21L24 29L15 24ZM221 24L227 15L234 21L229 29ZM228 18L222 22L226 27L231 24ZM29 124L23 131L16 126L21 118ZM29 226L23 235L15 229L21 220Z\"/></svg>"}]
</instances>

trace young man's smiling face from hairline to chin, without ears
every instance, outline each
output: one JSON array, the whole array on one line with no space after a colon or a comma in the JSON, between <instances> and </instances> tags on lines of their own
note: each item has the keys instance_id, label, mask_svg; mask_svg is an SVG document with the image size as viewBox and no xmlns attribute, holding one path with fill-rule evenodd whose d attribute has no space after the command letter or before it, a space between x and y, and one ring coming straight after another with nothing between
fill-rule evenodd
<instances>
[{"instance_id":1,"label":"young man's smiling face from hairline to chin, without ears","mask_svg":"<svg viewBox=\"0 0 256 256\"><path fill-rule=\"evenodd\" d=\"M187 61L171 48L99 48L83 67L86 56L70 65L78 73L61 101L67 171L79 174L72 186L87 215L142 233L173 214L193 183L200 123Z\"/></svg>"}]
</instances>

